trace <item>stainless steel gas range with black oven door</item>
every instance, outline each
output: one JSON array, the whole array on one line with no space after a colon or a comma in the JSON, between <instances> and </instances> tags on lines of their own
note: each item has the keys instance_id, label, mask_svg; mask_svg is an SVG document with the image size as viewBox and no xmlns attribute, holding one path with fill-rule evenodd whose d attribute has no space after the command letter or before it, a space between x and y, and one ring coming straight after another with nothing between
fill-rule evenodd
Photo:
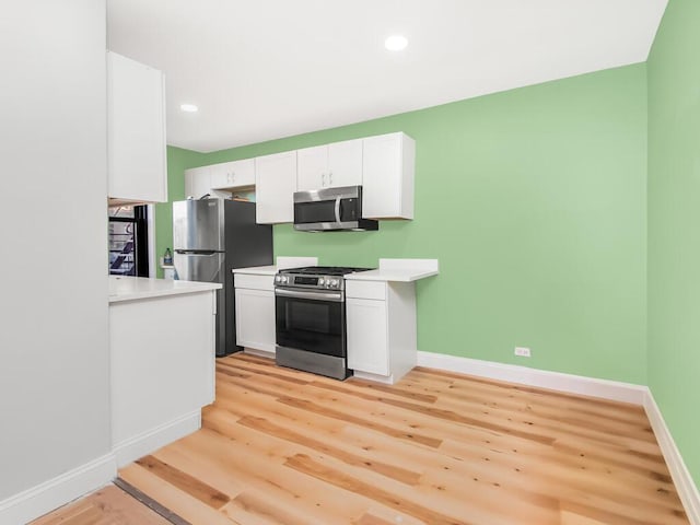
<instances>
[{"instance_id":1,"label":"stainless steel gas range with black oven door","mask_svg":"<svg viewBox=\"0 0 700 525\"><path fill-rule=\"evenodd\" d=\"M351 374L343 276L370 269L310 266L275 276L277 364L337 380Z\"/></svg>"}]
</instances>

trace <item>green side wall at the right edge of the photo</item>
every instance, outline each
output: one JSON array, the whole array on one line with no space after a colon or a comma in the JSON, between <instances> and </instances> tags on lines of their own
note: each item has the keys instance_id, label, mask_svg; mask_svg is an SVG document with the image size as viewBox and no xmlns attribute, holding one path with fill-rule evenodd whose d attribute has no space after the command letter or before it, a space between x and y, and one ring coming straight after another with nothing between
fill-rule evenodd
<instances>
[{"instance_id":1,"label":"green side wall at the right edge of the photo","mask_svg":"<svg viewBox=\"0 0 700 525\"><path fill-rule=\"evenodd\" d=\"M649 384L700 485L700 2L670 0L649 58Z\"/></svg>"}]
</instances>

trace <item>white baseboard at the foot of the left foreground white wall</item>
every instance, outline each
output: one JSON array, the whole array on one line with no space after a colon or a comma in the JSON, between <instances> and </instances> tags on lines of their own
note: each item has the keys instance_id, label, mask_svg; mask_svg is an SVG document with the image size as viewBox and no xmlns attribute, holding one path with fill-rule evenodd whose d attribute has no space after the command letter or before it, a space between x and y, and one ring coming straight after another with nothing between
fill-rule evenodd
<instances>
[{"instance_id":1,"label":"white baseboard at the foot of the left foreground white wall","mask_svg":"<svg viewBox=\"0 0 700 525\"><path fill-rule=\"evenodd\" d=\"M104 487L116 475L115 456L106 454L1 501L0 523L28 523Z\"/></svg>"}]
</instances>

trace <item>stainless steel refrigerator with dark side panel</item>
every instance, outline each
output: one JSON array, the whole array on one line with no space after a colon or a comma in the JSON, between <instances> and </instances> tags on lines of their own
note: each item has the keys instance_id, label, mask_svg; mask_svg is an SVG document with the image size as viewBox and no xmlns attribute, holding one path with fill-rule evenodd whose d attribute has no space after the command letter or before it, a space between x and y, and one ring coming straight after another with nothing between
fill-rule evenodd
<instances>
[{"instance_id":1,"label":"stainless steel refrigerator with dark side panel","mask_svg":"<svg viewBox=\"0 0 700 525\"><path fill-rule=\"evenodd\" d=\"M255 202L188 199L173 202L176 279L220 282L217 291L217 357L236 346L233 268L272 264L272 226L256 224Z\"/></svg>"}]
</instances>

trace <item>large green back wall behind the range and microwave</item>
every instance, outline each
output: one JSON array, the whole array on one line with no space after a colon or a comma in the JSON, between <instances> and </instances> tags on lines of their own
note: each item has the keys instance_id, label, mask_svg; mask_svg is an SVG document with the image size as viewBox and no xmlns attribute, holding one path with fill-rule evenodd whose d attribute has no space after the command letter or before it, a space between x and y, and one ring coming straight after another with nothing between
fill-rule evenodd
<instances>
[{"instance_id":1,"label":"large green back wall behind the range and microwave","mask_svg":"<svg viewBox=\"0 0 700 525\"><path fill-rule=\"evenodd\" d=\"M417 144L412 222L324 234L278 225L276 255L438 258L440 276L418 283L420 350L644 384L645 75L644 65L606 70L202 164L405 131ZM533 358L514 358L516 346Z\"/></svg>"}]
</instances>

